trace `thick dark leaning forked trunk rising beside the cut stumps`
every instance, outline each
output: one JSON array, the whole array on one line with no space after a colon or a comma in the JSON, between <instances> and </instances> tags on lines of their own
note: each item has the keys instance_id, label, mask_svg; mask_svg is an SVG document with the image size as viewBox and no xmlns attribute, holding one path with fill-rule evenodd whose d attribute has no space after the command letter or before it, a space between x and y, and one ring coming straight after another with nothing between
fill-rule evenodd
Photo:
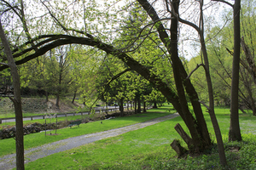
<instances>
[{"instance_id":1,"label":"thick dark leaning forked trunk rising beside the cut stumps","mask_svg":"<svg viewBox=\"0 0 256 170\"><path fill-rule=\"evenodd\" d=\"M165 89L163 86L160 89L161 93L166 96L166 94L169 94L169 97L166 97L169 102L172 103L174 108L178 111L180 116L182 116L183 121L186 123L187 127L189 128L189 132L192 136L192 139L195 141L195 144L197 145L198 150L205 150L209 146L212 145L210 135L207 130L207 124L205 122L204 116L201 111L201 104L199 103L198 95L195 92L195 88L189 81L189 79L186 79L187 73L183 67L182 61L178 58L177 56L177 16L174 16L174 20L172 20L172 28L171 28L171 43L168 37L168 34L166 33L166 30L164 26L160 23L160 18L154 11L154 8L148 3L147 0L138 0L138 2L143 6L143 8L147 11L148 16L151 17L154 22L158 22L157 25L157 31L159 32L160 39L161 41L165 44L169 54L171 54L171 59L172 59L172 66L175 65L173 68L173 71L175 71L176 74L176 80L178 81L177 84L177 90L178 92L178 97L173 95L172 92L167 93L167 89ZM178 3L179 2L172 2L173 8L175 8L175 13L178 14ZM173 17L172 17L173 18ZM175 49L176 48L176 49ZM179 69L179 70L178 70ZM178 76L179 75L179 76ZM183 84L181 84L181 78L183 80ZM186 99L184 98L184 92L183 92L183 85L184 88L186 89L186 92L189 94L189 99L190 102L193 105L193 109L195 112L196 120L188 110L188 105L186 103ZM157 86L157 85L156 85ZM166 92L165 92L166 91ZM180 96L181 95L181 96ZM170 97L172 96L172 99ZM179 99L179 98L182 99Z\"/></svg>"}]
</instances>

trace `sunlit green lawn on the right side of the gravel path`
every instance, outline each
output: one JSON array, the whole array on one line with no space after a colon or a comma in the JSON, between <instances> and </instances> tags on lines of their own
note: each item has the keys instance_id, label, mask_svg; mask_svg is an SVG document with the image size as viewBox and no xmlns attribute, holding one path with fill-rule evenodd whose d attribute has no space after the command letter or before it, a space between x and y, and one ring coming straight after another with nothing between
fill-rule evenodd
<instances>
[{"instance_id":1,"label":"sunlit green lawn on the right side of the gravel path","mask_svg":"<svg viewBox=\"0 0 256 170\"><path fill-rule=\"evenodd\" d=\"M155 111L165 110L166 108L160 108ZM177 159L170 144L173 139L180 139L180 137L173 127L177 122L182 127L185 128L185 126L181 117L176 117L117 137L102 139L32 161L26 164L26 169L256 169L256 117L241 115L243 141L229 143L227 140L230 126L229 112L230 110L227 109L216 109L224 137L228 167L219 165L216 145L212 150L208 150L207 155ZM205 116L209 131L214 134L207 113ZM123 119L110 121L127 121L125 117ZM212 139L215 139L214 135ZM237 146L241 149L236 150Z\"/></svg>"}]
</instances>

